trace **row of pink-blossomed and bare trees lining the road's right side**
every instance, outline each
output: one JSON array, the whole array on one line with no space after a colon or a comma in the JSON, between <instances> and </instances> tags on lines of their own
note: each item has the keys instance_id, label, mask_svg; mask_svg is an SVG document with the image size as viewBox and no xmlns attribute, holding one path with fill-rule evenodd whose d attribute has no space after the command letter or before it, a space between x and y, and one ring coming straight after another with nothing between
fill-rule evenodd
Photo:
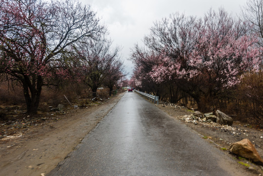
<instances>
[{"instance_id":1,"label":"row of pink-blossomed and bare trees lining the road's right side","mask_svg":"<svg viewBox=\"0 0 263 176\"><path fill-rule=\"evenodd\" d=\"M155 22L144 46L133 48L133 85L171 103L190 98L203 112L249 113L263 122L262 2L248 0L243 19L220 8Z\"/></svg>"}]
</instances>

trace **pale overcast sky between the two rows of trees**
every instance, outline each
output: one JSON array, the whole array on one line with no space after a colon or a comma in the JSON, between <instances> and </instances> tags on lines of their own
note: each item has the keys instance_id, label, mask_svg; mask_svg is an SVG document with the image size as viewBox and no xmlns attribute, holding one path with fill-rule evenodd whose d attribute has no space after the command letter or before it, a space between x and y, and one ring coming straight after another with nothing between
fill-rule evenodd
<instances>
[{"instance_id":1,"label":"pale overcast sky between the two rows of trees","mask_svg":"<svg viewBox=\"0 0 263 176\"><path fill-rule=\"evenodd\" d=\"M121 46L121 58L125 69L132 74L129 61L130 49L134 44L142 45L143 37L149 33L153 22L179 12L185 15L203 17L210 8L223 7L236 16L246 0L81 0L90 4L102 22L107 26L113 46Z\"/></svg>"}]
</instances>

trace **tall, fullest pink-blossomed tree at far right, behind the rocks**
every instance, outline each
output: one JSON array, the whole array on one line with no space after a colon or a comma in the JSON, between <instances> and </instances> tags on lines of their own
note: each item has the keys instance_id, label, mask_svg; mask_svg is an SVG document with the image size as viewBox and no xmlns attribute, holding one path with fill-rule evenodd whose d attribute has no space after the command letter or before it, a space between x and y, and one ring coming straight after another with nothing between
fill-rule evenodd
<instances>
[{"instance_id":1,"label":"tall, fullest pink-blossomed tree at far right, behind the rocks","mask_svg":"<svg viewBox=\"0 0 263 176\"><path fill-rule=\"evenodd\" d=\"M235 21L223 9L210 10L204 17L202 36L198 39L185 69L187 79L198 80L201 90L199 109L208 110L232 88L249 69L258 70L262 48L248 33L245 22ZM209 40L207 40L209 39Z\"/></svg>"}]
</instances>

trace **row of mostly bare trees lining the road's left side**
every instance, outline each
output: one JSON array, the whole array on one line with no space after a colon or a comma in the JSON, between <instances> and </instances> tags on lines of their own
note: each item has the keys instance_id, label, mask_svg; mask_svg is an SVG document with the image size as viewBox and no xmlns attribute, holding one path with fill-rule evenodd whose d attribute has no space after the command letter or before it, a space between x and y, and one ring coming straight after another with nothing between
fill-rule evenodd
<instances>
[{"instance_id":1,"label":"row of mostly bare trees lining the road's left side","mask_svg":"<svg viewBox=\"0 0 263 176\"><path fill-rule=\"evenodd\" d=\"M19 84L37 113L43 86L82 83L96 96L123 76L120 48L89 5L74 0L0 0L0 76ZM110 91L110 92L111 92Z\"/></svg>"}]
</instances>

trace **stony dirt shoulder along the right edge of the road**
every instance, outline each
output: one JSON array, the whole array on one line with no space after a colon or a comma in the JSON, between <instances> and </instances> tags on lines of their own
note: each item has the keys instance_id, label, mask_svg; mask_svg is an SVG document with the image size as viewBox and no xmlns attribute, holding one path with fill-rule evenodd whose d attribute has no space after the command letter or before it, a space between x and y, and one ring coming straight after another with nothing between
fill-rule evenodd
<instances>
[{"instance_id":1,"label":"stony dirt shoulder along the right edge of the road","mask_svg":"<svg viewBox=\"0 0 263 176\"><path fill-rule=\"evenodd\" d=\"M201 119L189 120L184 115L191 115L192 112L184 107L173 104L159 104L157 107L166 112L170 117L180 120L183 124L198 132L203 140L214 144L215 147L223 150L225 153L228 153L231 143L247 138L253 143L260 156L263 157L263 130L253 129L250 125L240 122L234 122L232 126L224 126L215 122L202 121ZM262 166L255 165L244 158L232 154L228 154L228 156L234 158L237 163L248 164L247 166L240 164L239 167L249 174L263 176ZM244 175L246 174L244 173Z\"/></svg>"}]
</instances>

